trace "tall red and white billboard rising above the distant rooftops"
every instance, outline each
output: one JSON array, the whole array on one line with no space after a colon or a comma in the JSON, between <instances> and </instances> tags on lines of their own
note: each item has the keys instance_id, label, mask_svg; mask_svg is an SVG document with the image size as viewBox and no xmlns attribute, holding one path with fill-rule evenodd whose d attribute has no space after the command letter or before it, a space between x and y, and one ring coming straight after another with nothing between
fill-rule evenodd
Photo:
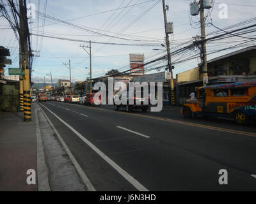
<instances>
[{"instance_id":1,"label":"tall red and white billboard rising above the distant rooftops","mask_svg":"<svg viewBox=\"0 0 256 204\"><path fill-rule=\"evenodd\" d=\"M130 54L130 69L132 76L144 75L144 54Z\"/></svg>"}]
</instances>

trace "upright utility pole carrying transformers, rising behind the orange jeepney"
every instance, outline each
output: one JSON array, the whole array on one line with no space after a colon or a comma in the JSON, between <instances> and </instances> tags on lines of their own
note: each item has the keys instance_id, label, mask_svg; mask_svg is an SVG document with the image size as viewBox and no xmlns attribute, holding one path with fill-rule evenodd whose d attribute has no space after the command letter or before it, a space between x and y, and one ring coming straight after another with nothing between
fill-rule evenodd
<instances>
[{"instance_id":1,"label":"upright utility pole carrying transformers, rising behind the orange jeepney","mask_svg":"<svg viewBox=\"0 0 256 204\"><path fill-rule=\"evenodd\" d=\"M206 41L205 41L205 18L204 18L204 0L200 0L200 24L201 24L201 39L202 39L202 72L203 72L203 85L205 86L208 81L207 73L207 56L206 56Z\"/></svg>"}]
</instances>

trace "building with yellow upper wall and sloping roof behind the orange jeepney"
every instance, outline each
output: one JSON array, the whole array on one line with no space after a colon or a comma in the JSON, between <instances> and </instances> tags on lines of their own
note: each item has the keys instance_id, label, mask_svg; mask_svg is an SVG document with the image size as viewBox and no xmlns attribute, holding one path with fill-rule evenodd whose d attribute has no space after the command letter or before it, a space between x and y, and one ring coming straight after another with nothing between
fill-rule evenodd
<instances>
[{"instance_id":1,"label":"building with yellow upper wall and sloping roof behind the orange jeepney","mask_svg":"<svg viewBox=\"0 0 256 204\"><path fill-rule=\"evenodd\" d=\"M208 84L223 84L256 80L256 47L246 47L221 55L207 62ZM189 98L191 91L203 85L199 67L177 74L176 96L179 105Z\"/></svg>"}]
</instances>

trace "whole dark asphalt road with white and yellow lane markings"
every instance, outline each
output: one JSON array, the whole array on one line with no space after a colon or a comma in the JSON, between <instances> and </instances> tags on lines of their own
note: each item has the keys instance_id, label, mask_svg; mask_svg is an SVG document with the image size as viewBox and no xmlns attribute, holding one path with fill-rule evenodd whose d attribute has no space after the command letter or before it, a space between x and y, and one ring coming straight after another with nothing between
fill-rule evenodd
<instances>
[{"instance_id":1,"label":"whole dark asphalt road with white and yellow lane markings","mask_svg":"<svg viewBox=\"0 0 256 204\"><path fill-rule=\"evenodd\" d=\"M256 190L255 125L184 119L177 108L39 104L97 191ZM221 169L227 185L218 182Z\"/></svg>"}]
</instances>

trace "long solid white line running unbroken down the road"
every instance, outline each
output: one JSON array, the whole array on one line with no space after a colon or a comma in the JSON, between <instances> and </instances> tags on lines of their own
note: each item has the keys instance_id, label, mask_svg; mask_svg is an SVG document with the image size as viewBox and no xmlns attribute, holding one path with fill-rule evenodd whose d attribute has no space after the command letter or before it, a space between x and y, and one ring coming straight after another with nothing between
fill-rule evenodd
<instances>
[{"instance_id":1,"label":"long solid white line running unbroken down the road","mask_svg":"<svg viewBox=\"0 0 256 204\"><path fill-rule=\"evenodd\" d=\"M44 105L42 105L42 106L44 106ZM44 108L46 108L50 113L52 113L52 115L54 115L63 124L65 124L65 126L67 126L69 129L71 129L73 131L73 133L75 133L81 140L83 140L84 143L86 143L97 154L99 154L99 156L102 157L102 159L104 159L110 166L115 168L115 170L118 173L120 173L120 175L122 175L128 182L130 182L132 184L132 186L136 187L136 189L138 189L138 191L148 191L148 189L146 187L144 187L142 184L140 184L140 182L138 182L138 180L134 179L131 175L129 175L129 173L127 173L127 171L123 170L120 166L118 166L118 164L116 164L115 161L113 161L108 156L106 156L106 154L104 154L102 151L100 151L95 145L93 145L93 143L91 143L89 140L86 140L86 138L84 138L83 135L81 135L79 132L77 132L76 129L72 128L72 126L67 124L67 122L65 122L60 117L58 117L58 115L56 115L54 112L49 110L49 108L47 108L45 106L44 106Z\"/></svg>"}]
</instances>

